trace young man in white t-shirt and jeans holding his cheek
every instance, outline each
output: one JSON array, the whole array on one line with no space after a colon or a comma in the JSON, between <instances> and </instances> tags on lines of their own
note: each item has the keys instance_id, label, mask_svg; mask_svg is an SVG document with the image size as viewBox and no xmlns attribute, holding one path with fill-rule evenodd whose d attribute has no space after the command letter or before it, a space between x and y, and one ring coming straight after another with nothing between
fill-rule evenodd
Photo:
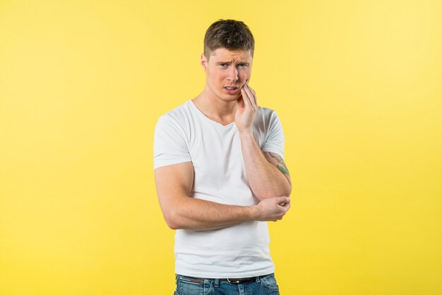
<instances>
[{"instance_id":1,"label":"young man in white t-shirt and jeans holding his cheek","mask_svg":"<svg viewBox=\"0 0 442 295\"><path fill-rule=\"evenodd\" d=\"M279 294L268 221L290 207L284 135L249 86L254 40L237 20L205 33L205 89L157 122L157 195L175 235L176 294Z\"/></svg>"}]
</instances>

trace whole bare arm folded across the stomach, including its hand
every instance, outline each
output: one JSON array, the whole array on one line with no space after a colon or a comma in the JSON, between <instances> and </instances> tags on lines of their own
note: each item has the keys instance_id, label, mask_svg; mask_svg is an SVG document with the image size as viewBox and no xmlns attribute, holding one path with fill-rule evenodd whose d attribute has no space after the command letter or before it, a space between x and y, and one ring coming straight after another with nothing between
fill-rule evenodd
<instances>
[{"instance_id":1,"label":"whole bare arm folded across the stomach, including its hand","mask_svg":"<svg viewBox=\"0 0 442 295\"><path fill-rule=\"evenodd\" d=\"M171 229L203 231L253 220L277 221L290 207L287 197L268 198L253 206L224 205L191 198L191 162L155 169L155 184L162 214Z\"/></svg>"}]
</instances>

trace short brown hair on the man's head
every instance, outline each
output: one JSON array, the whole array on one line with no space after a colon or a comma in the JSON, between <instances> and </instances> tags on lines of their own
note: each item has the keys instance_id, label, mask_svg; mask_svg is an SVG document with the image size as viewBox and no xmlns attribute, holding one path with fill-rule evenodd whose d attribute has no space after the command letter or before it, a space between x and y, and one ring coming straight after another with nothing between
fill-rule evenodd
<instances>
[{"instance_id":1,"label":"short brown hair on the man's head","mask_svg":"<svg viewBox=\"0 0 442 295\"><path fill-rule=\"evenodd\" d=\"M217 20L205 31L205 57L209 59L210 53L218 48L250 50L253 57L255 40L245 23L239 20Z\"/></svg>"}]
</instances>

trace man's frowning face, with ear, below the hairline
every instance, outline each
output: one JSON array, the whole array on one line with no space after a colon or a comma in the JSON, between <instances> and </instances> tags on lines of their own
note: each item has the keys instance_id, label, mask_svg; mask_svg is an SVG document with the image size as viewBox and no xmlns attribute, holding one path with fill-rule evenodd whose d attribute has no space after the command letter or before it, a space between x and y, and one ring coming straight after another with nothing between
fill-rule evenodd
<instances>
[{"instance_id":1,"label":"man's frowning face, with ear, below the hairline","mask_svg":"<svg viewBox=\"0 0 442 295\"><path fill-rule=\"evenodd\" d=\"M238 100L241 88L250 79L252 57L249 50L218 48L207 60L201 55L206 88L216 98L227 102Z\"/></svg>"}]
</instances>

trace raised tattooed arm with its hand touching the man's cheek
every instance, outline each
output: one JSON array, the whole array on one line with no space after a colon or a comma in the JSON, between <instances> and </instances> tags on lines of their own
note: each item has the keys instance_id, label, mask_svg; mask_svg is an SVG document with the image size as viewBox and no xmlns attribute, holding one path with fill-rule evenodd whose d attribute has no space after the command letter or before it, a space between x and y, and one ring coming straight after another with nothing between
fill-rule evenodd
<instances>
[{"instance_id":1,"label":"raised tattooed arm with its hand touching the man's cheek","mask_svg":"<svg viewBox=\"0 0 442 295\"><path fill-rule=\"evenodd\" d=\"M275 152L262 152L253 136L253 120L258 111L256 93L246 83L241 88L241 96L235 121L251 189L258 200L289 196L292 181L284 160Z\"/></svg>"}]
</instances>

